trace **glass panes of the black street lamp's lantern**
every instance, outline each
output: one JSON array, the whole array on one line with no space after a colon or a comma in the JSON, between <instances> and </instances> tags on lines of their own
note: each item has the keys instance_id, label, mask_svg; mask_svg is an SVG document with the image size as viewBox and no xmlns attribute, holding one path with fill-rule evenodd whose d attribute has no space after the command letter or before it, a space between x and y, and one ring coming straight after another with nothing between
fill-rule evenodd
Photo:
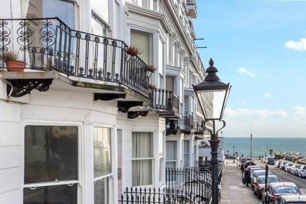
<instances>
[{"instance_id":1,"label":"glass panes of the black street lamp's lantern","mask_svg":"<svg viewBox=\"0 0 306 204\"><path fill-rule=\"evenodd\" d=\"M207 120L220 120L223 111L226 90L197 91L204 116Z\"/></svg>"}]
</instances>

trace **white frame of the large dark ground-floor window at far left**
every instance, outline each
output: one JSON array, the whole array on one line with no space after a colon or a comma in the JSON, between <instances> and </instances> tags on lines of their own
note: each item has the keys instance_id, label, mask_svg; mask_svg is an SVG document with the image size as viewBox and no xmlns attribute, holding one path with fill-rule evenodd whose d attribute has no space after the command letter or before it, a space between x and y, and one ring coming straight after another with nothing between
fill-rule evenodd
<instances>
[{"instance_id":1,"label":"white frame of the large dark ground-floor window at far left","mask_svg":"<svg viewBox=\"0 0 306 204\"><path fill-rule=\"evenodd\" d=\"M25 168L24 165L24 148L25 148L25 132L24 132L24 128L27 125L34 125L34 126L74 126L78 128L78 180L65 180L65 181L58 181L58 182L36 182L36 183L31 183L31 184L24 184L23 183L23 187L22 189L25 188L30 188L30 189L36 189L36 187L52 187L52 186L58 186L58 185L74 185L77 184L77 199L78 202L81 198L81 186L82 186L82 175L81 175L81 166L82 166L82 159L83 159L83 155L81 155L81 152L83 152L83 148L81 146L81 141L83 141L83 128L82 128L82 124L81 123L74 123L74 122L69 122L69 121L52 121L52 120L26 120L22 123L22 143L24 144L22 147L22 168ZM24 178L24 173L23 173L23 178ZM22 197L22 200L24 200L24 196Z\"/></svg>"}]
</instances>

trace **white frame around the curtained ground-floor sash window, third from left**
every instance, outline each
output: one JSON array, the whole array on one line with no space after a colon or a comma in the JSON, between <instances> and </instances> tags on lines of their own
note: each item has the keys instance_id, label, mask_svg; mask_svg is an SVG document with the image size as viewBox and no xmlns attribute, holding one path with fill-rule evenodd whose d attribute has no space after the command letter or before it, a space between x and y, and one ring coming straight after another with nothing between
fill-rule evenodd
<instances>
[{"instance_id":1,"label":"white frame around the curtained ground-floor sash window, third from left","mask_svg":"<svg viewBox=\"0 0 306 204\"><path fill-rule=\"evenodd\" d=\"M151 185L140 185L140 186L132 186L132 187L153 187L156 178L156 172L154 171L155 169L155 155L156 155L156 132L155 131L150 131L150 130L131 130L131 148L133 148L133 132L150 132L152 133L152 157L143 157L143 158L133 158L133 153L131 152L131 165L133 166L133 161L140 161L140 160L151 160L152 162L152 184ZM131 171L131 182L133 183L133 167Z\"/></svg>"}]
</instances>

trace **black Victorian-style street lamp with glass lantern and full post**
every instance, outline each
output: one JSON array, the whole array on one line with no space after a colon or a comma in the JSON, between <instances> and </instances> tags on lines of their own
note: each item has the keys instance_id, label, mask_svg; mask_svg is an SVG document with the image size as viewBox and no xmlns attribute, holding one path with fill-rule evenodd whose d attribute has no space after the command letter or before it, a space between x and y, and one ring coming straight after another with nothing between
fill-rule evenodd
<instances>
[{"instance_id":1,"label":"black Victorian-style street lamp with glass lantern and full post","mask_svg":"<svg viewBox=\"0 0 306 204\"><path fill-rule=\"evenodd\" d=\"M202 113L204 115L204 129L210 132L211 139L211 193L212 203L218 204L218 132L225 127L225 121L222 120L227 97L230 94L230 83L225 84L220 81L214 67L214 61L209 60L207 76L204 81L198 85L193 85L193 90L198 98ZM205 127L207 121L212 121L212 128ZM223 127L216 131L216 120L223 122Z\"/></svg>"}]
</instances>

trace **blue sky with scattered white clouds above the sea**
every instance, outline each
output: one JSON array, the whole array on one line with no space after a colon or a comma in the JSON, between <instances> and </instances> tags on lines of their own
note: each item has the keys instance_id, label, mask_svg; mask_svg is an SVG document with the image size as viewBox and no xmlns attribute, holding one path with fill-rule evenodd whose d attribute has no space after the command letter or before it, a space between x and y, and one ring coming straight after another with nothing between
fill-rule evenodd
<instances>
[{"instance_id":1,"label":"blue sky with scattered white clouds above the sea","mask_svg":"<svg viewBox=\"0 0 306 204\"><path fill-rule=\"evenodd\" d=\"M198 0L207 68L232 84L224 136L305 137L306 1Z\"/></svg>"}]
</instances>

